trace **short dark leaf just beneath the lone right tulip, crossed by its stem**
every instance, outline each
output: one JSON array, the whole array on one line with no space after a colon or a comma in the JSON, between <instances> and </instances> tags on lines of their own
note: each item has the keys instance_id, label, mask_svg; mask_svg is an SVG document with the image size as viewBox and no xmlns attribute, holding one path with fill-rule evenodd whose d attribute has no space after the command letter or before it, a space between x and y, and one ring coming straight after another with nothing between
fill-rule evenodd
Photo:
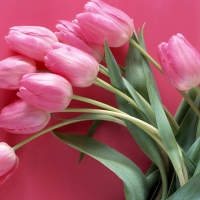
<instances>
[{"instance_id":1,"label":"short dark leaf just beneath the lone right tulip, crossed by its stem","mask_svg":"<svg viewBox=\"0 0 200 200\"><path fill-rule=\"evenodd\" d=\"M187 91L187 95L190 97L190 99L192 101L195 100L196 98L196 91L194 89L190 89ZM190 109L190 105L188 104L188 102L185 100L185 98L182 99L176 114L174 116L175 120L177 121L177 123L180 125L182 120L185 117L185 114L187 113L187 111Z\"/></svg>"}]
</instances>

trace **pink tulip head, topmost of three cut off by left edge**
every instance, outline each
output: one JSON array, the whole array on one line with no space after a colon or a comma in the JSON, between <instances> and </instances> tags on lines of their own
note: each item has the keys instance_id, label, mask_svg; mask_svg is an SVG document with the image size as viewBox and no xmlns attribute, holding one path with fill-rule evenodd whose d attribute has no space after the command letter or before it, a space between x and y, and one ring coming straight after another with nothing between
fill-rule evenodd
<instances>
[{"instance_id":1,"label":"pink tulip head, topmost of three cut off by left edge","mask_svg":"<svg viewBox=\"0 0 200 200\"><path fill-rule=\"evenodd\" d=\"M34 60L25 56L12 56L0 62L0 88L18 89L23 75L36 72Z\"/></svg>"}]
</instances>

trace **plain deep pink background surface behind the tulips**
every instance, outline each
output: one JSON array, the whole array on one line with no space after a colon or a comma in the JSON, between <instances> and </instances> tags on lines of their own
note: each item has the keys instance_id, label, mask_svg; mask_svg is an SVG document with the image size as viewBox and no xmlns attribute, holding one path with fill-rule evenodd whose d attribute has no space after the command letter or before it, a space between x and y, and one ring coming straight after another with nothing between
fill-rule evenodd
<instances>
[{"instance_id":1,"label":"plain deep pink background surface behind the tulips","mask_svg":"<svg viewBox=\"0 0 200 200\"><path fill-rule=\"evenodd\" d=\"M145 39L149 53L157 59L157 45L178 32L182 33L200 51L200 3L199 0L105 0L120 8L134 19L136 29L146 23ZM11 51L4 36L9 27L15 25L45 26L55 31L59 19L72 20L83 11L86 0L6 0L1 3L0 12L0 59L15 52ZM127 45L112 49L119 64L124 65ZM43 65L38 63L39 67ZM172 114L181 100L154 68L164 105ZM133 75L134 77L134 75ZM75 94L98 99L116 105L114 96L92 86L88 89L74 89ZM9 104L16 91L0 90L0 108ZM72 102L71 107L81 107ZM70 133L85 134L90 122L71 125ZM27 136L6 133L0 129L0 141L14 146ZM140 151L125 128L103 122L95 138L109 144L132 159L143 172L150 161ZM17 152L20 165L15 174L0 186L2 200L124 200L123 184L118 177L96 160L85 157L78 165L79 152L54 138L50 133L25 145Z\"/></svg>"}]
</instances>

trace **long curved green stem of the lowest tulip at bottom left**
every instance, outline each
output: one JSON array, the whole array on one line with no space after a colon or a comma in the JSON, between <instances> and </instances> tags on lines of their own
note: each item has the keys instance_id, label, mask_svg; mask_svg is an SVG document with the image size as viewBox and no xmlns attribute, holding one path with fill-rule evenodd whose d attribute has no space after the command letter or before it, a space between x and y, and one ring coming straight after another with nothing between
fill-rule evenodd
<instances>
[{"instance_id":1,"label":"long curved green stem of the lowest tulip at bottom left","mask_svg":"<svg viewBox=\"0 0 200 200\"><path fill-rule=\"evenodd\" d=\"M65 121L63 121L63 122L60 122L60 123L58 123L58 124L55 124L55 125L53 125L53 126L51 126L51 127L48 127L48 128L46 128L46 129L44 129L44 130L42 130L42 131L40 131L40 132L38 132L38 133L36 133L36 134L30 136L29 138L27 138L27 139L23 140L22 142L18 143L17 145L15 145L15 146L13 147L13 149L14 149L14 151L16 151L17 149L19 149L20 147L24 146L25 144L31 142L32 140L34 140L34 139L36 139L36 138L38 138L38 137L44 135L45 133L48 133L49 131L52 131L52 130L54 130L54 129L60 128L60 127L62 127L62 126L66 126L66 125L68 125L68 124L80 122L80 121L93 120L93 118L94 118L93 116L91 116L90 118L87 118L87 119L81 118L81 117L75 117L75 118L73 118L73 119L65 120ZM106 116L105 116L105 117L102 119L102 116L99 116L99 117L96 117L95 119L96 119L96 120L99 119L99 120L111 121L111 122L118 123L118 124L120 124L120 125L126 126L125 123L124 123L122 120L118 119L118 118L113 118L113 119L111 119L111 118L106 118Z\"/></svg>"}]
</instances>

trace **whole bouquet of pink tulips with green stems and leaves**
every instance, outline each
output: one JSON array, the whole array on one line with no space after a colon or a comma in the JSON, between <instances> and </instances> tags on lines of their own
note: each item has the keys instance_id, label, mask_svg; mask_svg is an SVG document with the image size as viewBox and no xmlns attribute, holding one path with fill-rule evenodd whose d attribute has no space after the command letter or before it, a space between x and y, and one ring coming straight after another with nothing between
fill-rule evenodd
<instances>
[{"instance_id":1,"label":"whole bouquet of pink tulips with green stems and leaves","mask_svg":"<svg viewBox=\"0 0 200 200\"><path fill-rule=\"evenodd\" d=\"M0 88L17 90L19 99L1 110L0 126L9 133L31 136L14 147L0 143L0 183L17 169L15 151L51 132L80 151L80 161L87 154L112 170L123 181L127 200L198 199L200 54L177 34L158 45L161 67L146 51L143 29L136 32L133 20L124 12L101 0L91 0L84 8L72 22L60 20L55 33L44 27L15 26L5 37L20 55L0 62ZM119 66L110 47L126 42L126 64ZM35 61L43 62L47 70L37 71ZM174 117L162 105L150 63L183 96ZM92 84L115 94L118 107L73 94L74 87ZM73 100L96 108L68 107ZM59 117L68 112L83 114ZM53 125L51 118L56 119ZM60 130L86 120L93 121L87 136ZM92 137L102 120L128 129L152 161L146 174L129 158Z\"/></svg>"}]
</instances>

